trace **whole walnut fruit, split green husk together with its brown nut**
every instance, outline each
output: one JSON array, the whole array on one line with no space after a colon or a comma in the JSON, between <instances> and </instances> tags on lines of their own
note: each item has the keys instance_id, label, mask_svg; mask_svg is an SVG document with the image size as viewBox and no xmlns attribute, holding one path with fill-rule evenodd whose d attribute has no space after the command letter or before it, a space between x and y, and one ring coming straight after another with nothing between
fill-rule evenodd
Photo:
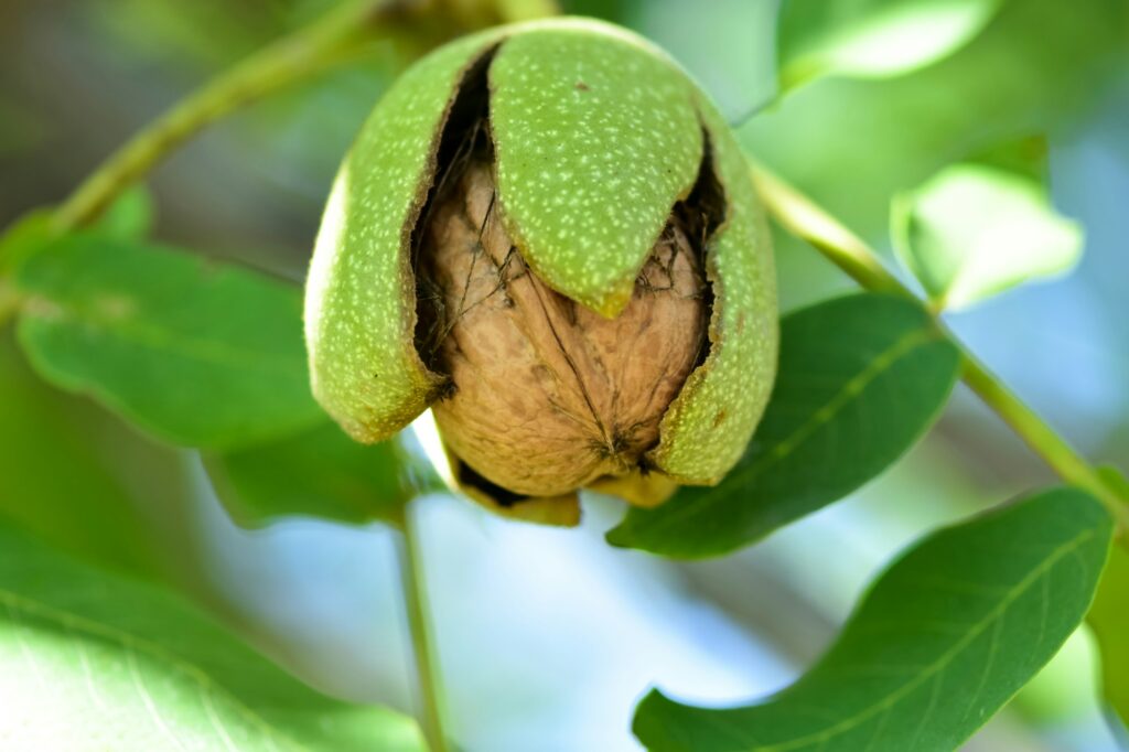
<instances>
[{"instance_id":1,"label":"whole walnut fruit, split green husk together with its brown nut","mask_svg":"<svg viewBox=\"0 0 1129 752\"><path fill-rule=\"evenodd\" d=\"M455 481L578 519L736 463L776 369L772 254L706 95L587 19L448 44L341 166L306 288L314 394L360 441L434 408Z\"/></svg>"}]
</instances>

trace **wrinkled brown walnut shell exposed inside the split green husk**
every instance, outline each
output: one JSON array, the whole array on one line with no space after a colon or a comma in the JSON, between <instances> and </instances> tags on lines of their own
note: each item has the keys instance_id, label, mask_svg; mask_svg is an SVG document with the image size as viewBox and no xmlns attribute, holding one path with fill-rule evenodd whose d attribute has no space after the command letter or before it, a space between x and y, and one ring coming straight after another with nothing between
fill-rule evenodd
<instances>
[{"instance_id":1,"label":"wrinkled brown walnut shell exposed inside the split green husk","mask_svg":"<svg viewBox=\"0 0 1129 752\"><path fill-rule=\"evenodd\" d=\"M432 409L455 454L530 496L637 469L706 344L706 283L681 230L604 318L530 272L480 163L432 212L420 266L438 312L427 339L455 385Z\"/></svg>"}]
</instances>

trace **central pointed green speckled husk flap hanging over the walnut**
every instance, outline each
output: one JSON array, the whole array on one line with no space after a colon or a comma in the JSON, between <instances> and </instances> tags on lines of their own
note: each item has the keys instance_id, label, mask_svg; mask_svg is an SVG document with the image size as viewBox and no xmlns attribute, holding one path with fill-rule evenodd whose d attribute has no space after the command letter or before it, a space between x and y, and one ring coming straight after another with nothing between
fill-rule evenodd
<instances>
[{"instance_id":1,"label":"central pointed green speckled husk flap hanging over the walnut","mask_svg":"<svg viewBox=\"0 0 1129 752\"><path fill-rule=\"evenodd\" d=\"M564 20L509 38L490 89L510 236L550 287L618 315L698 176L693 86L640 40Z\"/></svg>"}]
</instances>

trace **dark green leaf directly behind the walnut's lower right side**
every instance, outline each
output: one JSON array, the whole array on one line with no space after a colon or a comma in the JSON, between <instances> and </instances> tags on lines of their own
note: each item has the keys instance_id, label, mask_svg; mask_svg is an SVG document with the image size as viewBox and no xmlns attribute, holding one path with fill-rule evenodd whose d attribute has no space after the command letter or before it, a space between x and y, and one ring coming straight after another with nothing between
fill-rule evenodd
<instances>
[{"instance_id":1,"label":"dark green leaf directly behind the walnut's lower right side","mask_svg":"<svg viewBox=\"0 0 1129 752\"><path fill-rule=\"evenodd\" d=\"M737 466L714 488L631 509L609 542L718 556L842 498L928 429L959 360L910 300L852 295L786 316L776 387Z\"/></svg>"}]
</instances>

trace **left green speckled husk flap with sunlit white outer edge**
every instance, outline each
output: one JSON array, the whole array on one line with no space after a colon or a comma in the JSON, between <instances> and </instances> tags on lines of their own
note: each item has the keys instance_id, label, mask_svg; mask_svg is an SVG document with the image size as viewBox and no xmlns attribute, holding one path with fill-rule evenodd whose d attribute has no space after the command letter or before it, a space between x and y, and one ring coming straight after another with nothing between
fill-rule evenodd
<instances>
[{"instance_id":1,"label":"left green speckled husk flap with sunlit white outer edge","mask_svg":"<svg viewBox=\"0 0 1129 752\"><path fill-rule=\"evenodd\" d=\"M314 396L360 441L419 416L443 386L413 344L411 231L463 72L498 38L444 46L408 70L369 115L338 173L306 281Z\"/></svg>"}]
</instances>

